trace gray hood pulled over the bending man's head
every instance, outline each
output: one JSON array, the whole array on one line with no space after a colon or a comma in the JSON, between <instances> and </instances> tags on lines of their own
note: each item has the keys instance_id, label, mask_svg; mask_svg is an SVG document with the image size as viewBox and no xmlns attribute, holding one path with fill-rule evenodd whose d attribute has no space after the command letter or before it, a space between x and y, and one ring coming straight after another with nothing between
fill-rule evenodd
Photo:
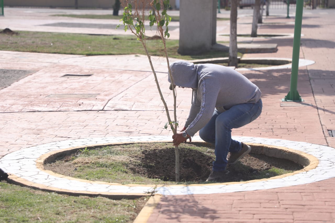
<instances>
[{"instance_id":1,"label":"gray hood pulled over the bending man's head","mask_svg":"<svg viewBox=\"0 0 335 223\"><path fill-rule=\"evenodd\" d=\"M170 70L173 82L176 86L189 88L198 87L198 66L194 63L179 60L170 65ZM171 83L170 74L167 81ZM172 90L172 85L170 85L170 90Z\"/></svg>"}]
</instances>

